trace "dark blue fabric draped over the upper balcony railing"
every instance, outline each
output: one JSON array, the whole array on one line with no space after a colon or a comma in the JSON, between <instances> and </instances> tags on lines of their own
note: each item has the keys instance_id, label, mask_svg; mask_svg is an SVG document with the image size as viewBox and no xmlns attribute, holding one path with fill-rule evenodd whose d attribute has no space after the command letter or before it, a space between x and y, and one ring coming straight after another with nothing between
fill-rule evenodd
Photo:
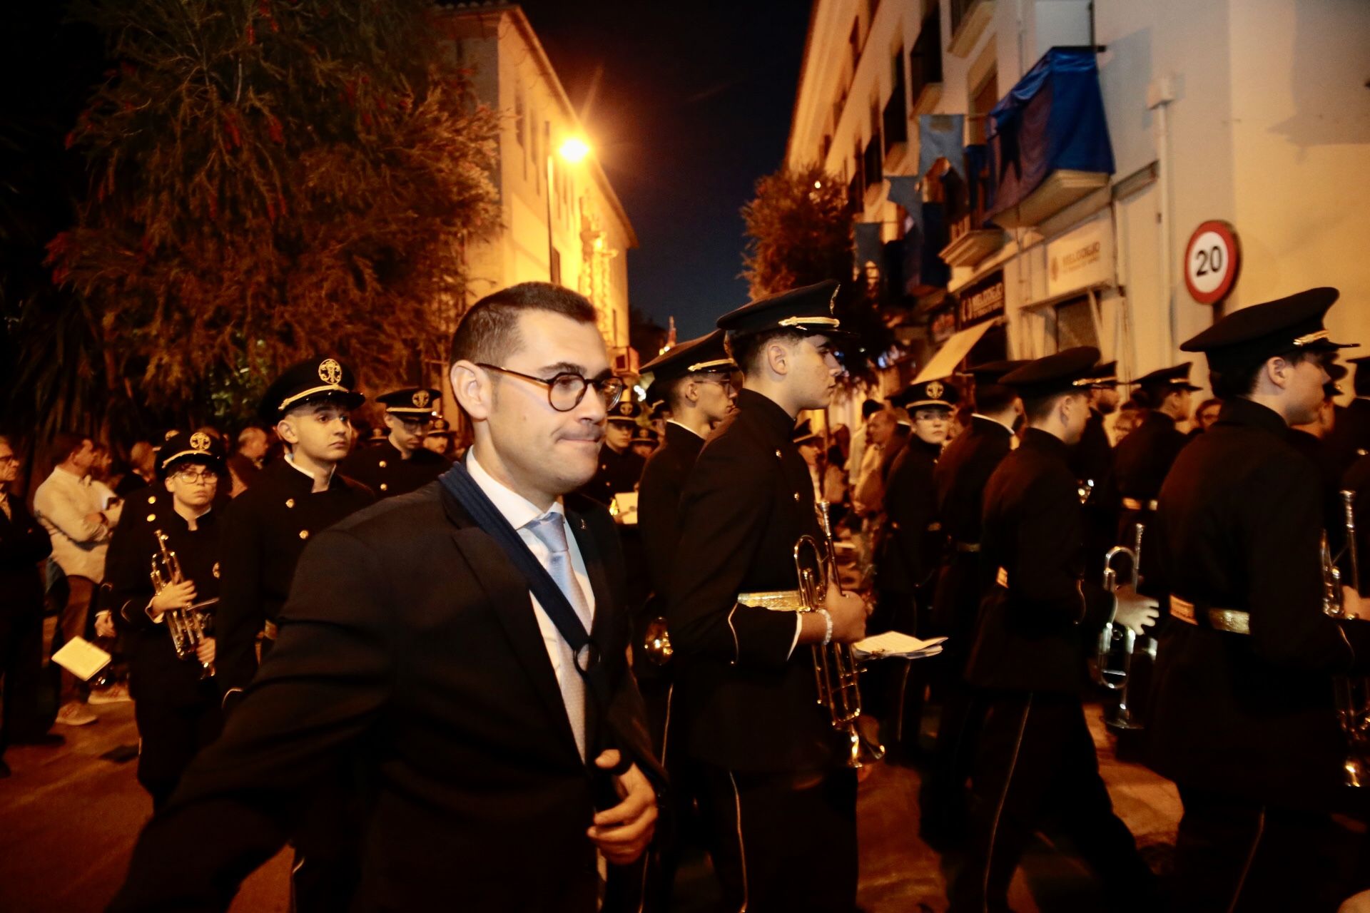
<instances>
[{"instance_id":1,"label":"dark blue fabric draped over the upper balcony railing","mask_svg":"<svg viewBox=\"0 0 1370 913\"><path fill-rule=\"evenodd\" d=\"M1092 49L1052 48L989 112L991 216L1022 203L1054 171L1114 172Z\"/></svg>"}]
</instances>

